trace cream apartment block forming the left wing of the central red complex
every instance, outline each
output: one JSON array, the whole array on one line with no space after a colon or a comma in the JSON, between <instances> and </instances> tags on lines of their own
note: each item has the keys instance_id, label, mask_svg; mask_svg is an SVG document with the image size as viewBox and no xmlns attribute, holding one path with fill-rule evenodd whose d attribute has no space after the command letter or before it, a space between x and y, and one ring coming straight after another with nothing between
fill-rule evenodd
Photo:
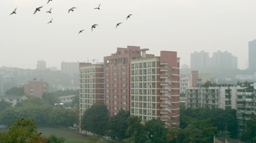
<instances>
[{"instance_id":1,"label":"cream apartment block forming the left wing of the central red complex","mask_svg":"<svg viewBox=\"0 0 256 143\"><path fill-rule=\"evenodd\" d=\"M80 118L93 104L103 103L103 64L80 63Z\"/></svg>"}]
</instances>

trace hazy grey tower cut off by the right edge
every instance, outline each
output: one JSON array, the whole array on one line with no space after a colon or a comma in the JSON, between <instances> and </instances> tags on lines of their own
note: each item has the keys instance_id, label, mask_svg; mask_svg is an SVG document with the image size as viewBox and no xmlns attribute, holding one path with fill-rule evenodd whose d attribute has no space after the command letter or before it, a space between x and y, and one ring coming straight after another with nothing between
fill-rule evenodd
<instances>
[{"instance_id":1,"label":"hazy grey tower cut off by the right edge","mask_svg":"<svg viewBox=\"0 0 256 143\"><path fill-rule=\"evenodd\" d=\"M249 42L249 69L256 71L256 39Z\"/></svg>"}]
</instances>

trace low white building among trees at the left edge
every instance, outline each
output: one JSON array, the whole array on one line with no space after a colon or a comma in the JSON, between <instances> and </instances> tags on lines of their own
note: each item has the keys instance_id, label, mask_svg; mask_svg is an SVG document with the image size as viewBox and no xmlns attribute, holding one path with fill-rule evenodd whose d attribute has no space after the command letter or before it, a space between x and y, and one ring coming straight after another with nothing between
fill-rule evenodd
<instances>
[{"instance_id":1,"label":"low white building among trees at the left edge","mask_svg":"<svg viewBox=\"0 0 256 143\"><path fill-rule=\"evenodd\" d=\"M7 95L7 96L0 96L0 101L5 101L10 104L11 107L15 107L15 105L18 102L22 102L24 100L28 99L26 96L12 96L12 95Z\"/></svg>"}]
</instances>

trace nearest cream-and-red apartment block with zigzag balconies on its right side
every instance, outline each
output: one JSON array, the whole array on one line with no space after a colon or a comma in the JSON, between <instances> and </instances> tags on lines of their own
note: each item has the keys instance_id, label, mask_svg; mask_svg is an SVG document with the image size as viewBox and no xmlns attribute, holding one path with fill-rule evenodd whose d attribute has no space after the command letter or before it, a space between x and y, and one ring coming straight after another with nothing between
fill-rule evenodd
<instances>
[{"instance_id":1,"label":"nearest cream-and-red apartment block with zigzag balconies on its right side","mask_svg":"<svg viewBox=\"0 0 256 143\"><path fill-rule=\"evenodd\" d=\"M179 58L161 51L160 57L131 60L131 115L142 121L159 119L179 128Z\"/></svg>"}]
</instances>

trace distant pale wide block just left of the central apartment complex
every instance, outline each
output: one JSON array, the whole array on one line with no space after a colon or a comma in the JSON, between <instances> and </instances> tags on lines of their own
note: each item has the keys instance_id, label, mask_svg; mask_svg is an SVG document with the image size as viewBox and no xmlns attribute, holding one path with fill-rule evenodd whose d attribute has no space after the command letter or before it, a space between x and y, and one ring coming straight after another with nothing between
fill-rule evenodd
<instances>
[{"instance_id":1,"label":"distant pale wide block just left of the central apartment complex","mask_svg":"<svg viewBox=\"0 0 256 143\"><path fill-rule=\"evenodd\" d=\"M79 62L61 62L61 73L79 73Z\"/></svg>"}]
</instances>

